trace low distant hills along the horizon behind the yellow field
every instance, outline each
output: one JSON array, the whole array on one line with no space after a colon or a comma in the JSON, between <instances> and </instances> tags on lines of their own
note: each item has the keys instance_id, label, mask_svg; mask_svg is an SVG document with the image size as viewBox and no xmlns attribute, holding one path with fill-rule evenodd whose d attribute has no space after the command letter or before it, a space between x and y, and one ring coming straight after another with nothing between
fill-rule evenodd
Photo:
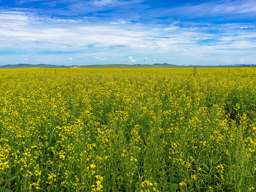
<instances>
[{"instance_id":1,"label":"low distant hills along the horizon behind the yellow field","mask_svg":"<svg viewBox=\"0 0 256 192\"><path fill-rule=\"evenodd\" d=\"M196 65L196 67L255 67L255 64L235 64L235 65L218 65L218 66L201 66ZM106 65L82 65L82 66L64 66L64 65L49 65L49 64L17 64L17 65L3 65L0 68L164 68L164 67L195 67L194 65L189 66L180 66L173 65L169 63L154 63L153 65L149 64L106 64Z\"/></svg>"}]
</instances>

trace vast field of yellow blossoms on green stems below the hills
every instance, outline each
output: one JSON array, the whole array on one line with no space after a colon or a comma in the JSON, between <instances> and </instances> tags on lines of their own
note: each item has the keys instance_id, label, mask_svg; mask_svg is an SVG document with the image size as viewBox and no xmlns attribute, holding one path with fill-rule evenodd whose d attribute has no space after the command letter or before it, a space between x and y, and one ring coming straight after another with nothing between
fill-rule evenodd
<instances>
[{"instance_id":1,"label":"vast field of yellow blossoms on green stems below the hills","mask_svg":"<svg viewBox=\"0 0 256 192\"><path fill-rule=\"evenodd\" d=\"M0 69L0 191L256 191L256 68Z\"/></svg>"}]
</instances>

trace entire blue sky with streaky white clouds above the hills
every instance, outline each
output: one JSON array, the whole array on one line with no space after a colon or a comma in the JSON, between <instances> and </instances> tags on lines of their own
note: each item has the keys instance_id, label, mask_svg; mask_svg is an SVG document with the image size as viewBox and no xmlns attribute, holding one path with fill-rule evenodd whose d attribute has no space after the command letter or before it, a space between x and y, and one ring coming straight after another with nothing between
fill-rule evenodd
<instances>
[{"instance_id":1,"label":"entire blue sky with streaky white clouds above the hills","mask_svg":"<svg viewBox=\"0 0 256 192\"><path fill-rule=\"evenodd\" d=\"M0 0L0 65L256 63L255 18L255 0Z\"/></svg>"}]
</instances>

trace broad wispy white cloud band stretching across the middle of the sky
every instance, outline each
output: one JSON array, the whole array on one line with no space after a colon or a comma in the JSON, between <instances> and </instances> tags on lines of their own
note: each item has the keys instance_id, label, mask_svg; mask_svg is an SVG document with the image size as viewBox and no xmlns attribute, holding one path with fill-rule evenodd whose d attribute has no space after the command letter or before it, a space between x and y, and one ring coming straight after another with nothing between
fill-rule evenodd
<instances>
[{"instance_id":1,"label":"broad wispy white cloud band stretching across the middle of the sky","mask_svg":"<svg viewBox=\"0 0 256 192\"><path fill-rule=\"evenodd\" d=\"M17 15L19 17L17 17ZM134 49L135 52L187 52L192 53L200 50L203 52L217 51L222 47L228 49L247 49L255 47L256 33L239 30L237 25L212 25L206 27L183 27L182 30L175 26L163 27L162 30L148 30L146 26L133 26L131 30L129 23L124 26L119 25L90 25L82 26L79 23L63 23L49 18L38 18L31 12L12 11L0 13L0 48L15 47L20 45L22 49L47 49L60 51L83 50L85 46L91 44L95 49L101 47L118 45ZM251 24L252 27L253 24ZM160 26L159 26L160 27ZM29 30L28 30L29 28ZM169 29L172 28L171 34ZM167 30L168 29L168 30ZM222 30L221 35L207 33L209 30ZM236 29L236 30L235 30ZM239 31L238 31L238 30ZM166 38L162 38L165 36ZM207 45L206 50L197 41L212 39L211 45ZM65 45L63 45L65 39ZM134 41L136 39L136 41ZM215 40L217 40L215 42ZM234 41L236 40L236 41ZM239 41L238 41L239 40ZM231 41L231 42L228 42ZM26 44L25 44L26 42ZM228 44L227 44L228 43ZM66 45L71 45L66 46ZM50 48L49 48L50 47ZM204 47L205 48L205 47ZM211 50L210 50L211 49ZM218 51L217 51L218 52ZM182 53L183 54L183 53ZM186 53L189 54L189 53ZM132 60L132 59L130 59Z\"/></svg>"}]
</instances>

